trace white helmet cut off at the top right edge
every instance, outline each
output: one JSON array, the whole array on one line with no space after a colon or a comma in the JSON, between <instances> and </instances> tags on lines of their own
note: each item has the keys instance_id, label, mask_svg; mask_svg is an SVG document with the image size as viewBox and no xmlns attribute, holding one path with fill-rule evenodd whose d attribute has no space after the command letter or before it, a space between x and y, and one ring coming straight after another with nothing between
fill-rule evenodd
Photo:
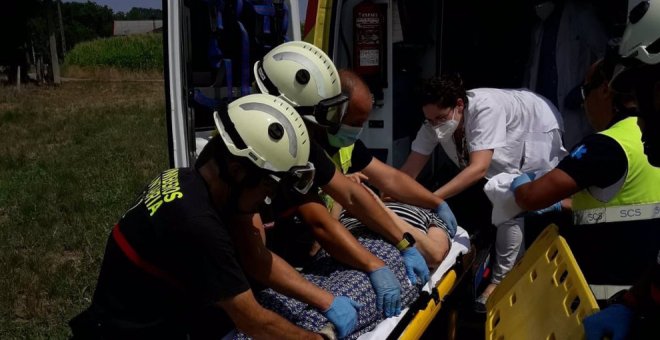
<instances>
[{"instance_id":1,"label":"white helmet cut off at the top right edge","mask_svg":"<svg viewBox=\"0 0 660 340\"><path fill-rule=\"evenodd\" d=\"M628 19L612 83L629 69L643 64L660 64L660 3L642 1L630 11Z\"/></svg>"}]
</instances>

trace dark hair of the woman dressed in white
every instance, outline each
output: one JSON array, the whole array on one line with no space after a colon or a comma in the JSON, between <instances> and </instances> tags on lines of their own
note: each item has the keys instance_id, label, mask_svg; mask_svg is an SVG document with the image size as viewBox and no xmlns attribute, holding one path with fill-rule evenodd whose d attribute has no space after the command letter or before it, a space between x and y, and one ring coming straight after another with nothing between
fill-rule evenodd
<instances>
[{"instance_id":1,"label":"dark hair of the woman dressed in white","mask_svg":"<svg viewBox=\"0 0 660 340\"><path fill-rule=\"evenodd\" d=\"M435 104L440 107L454 107L458 98L463 99L465 105L468 104L463 79L458 74L426 79L418 93L421 106Z\"/></svg>"}]
</instances>

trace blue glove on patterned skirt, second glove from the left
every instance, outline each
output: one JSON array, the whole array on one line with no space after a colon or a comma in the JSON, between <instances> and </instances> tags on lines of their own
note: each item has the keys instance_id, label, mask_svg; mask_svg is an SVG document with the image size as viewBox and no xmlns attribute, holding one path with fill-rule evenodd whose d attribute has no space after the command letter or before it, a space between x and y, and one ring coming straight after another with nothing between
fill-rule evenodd
<instances>
[{"instance_id":1,"label":"blue glove on patterned skirt, second glove from the left","mask_svg":"<svg viewBox=\"0 0 660 340\"><path fill-rule=\"evenodd\" d=\"M401 313L401 284L387 266L369 273L369 280L376 291L376 308L384 312L385 317Z\"/></svg>"}]
</instances>

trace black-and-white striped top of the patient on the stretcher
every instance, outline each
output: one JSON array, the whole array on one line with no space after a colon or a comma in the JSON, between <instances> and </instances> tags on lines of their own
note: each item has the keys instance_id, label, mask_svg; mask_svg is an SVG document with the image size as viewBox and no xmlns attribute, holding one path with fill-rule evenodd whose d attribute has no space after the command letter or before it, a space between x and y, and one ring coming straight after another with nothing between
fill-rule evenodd
<instances>
[{"instance_id":1,"label":"black-and-white striped top of the patient on the stretcher","mask_svg":"<svg viewBox=\"0 0 660 340\"><path fill-rule=\"evenodd\" d=\"M390 208L390 210L401 217L401 219L425 233L428 233L429 227L439 227L447 230L445 222L430 209L419 208L399 202L387 202L385 203L385 206ZM345 225L348 230L365 227L364 223L351 216L346 210L342 211L339 216L339 222Z\"/></svg>"}]
</instances>

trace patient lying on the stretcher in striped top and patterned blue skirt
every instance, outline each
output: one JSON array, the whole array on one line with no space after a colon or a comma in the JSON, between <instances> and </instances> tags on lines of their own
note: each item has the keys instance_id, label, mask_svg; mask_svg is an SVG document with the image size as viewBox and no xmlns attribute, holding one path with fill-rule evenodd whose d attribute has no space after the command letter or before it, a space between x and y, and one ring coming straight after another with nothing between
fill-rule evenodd
<instances>
[{"instance_id":1,"label":"patient lying on the stretcher in striped top and patterned blue skirt","mask_svg":"<svg viewBox=\"0 0 660 340\"><path fill-rule=\"evenodd\" d=\"M434 269L439 266L447 256L451 245L446 224L428 209L403 203L382 203L373 192L371 193L375 199L387 207L390 214L396 217L395 220L402 228L413 233L416 240L415 246L424 256L429 267ZM400 252L379 235L367 229L356 218L349 216L348 212L341 212L339 220L365 248L392 269L401 283L402 307L410 305L419 295L421 286L414 287L410 284ZM382 313L378 313L376 310L376 294L367 274L342 265L332 259L324 250L320 250L314 261L304 268L303 276L335 296L345 295L363 305L359 309L355 331L347 339L356 339L372 330L383 319ZM328 323L328 320L314 308L271 289L257 294L257 300L264 307L311 331L319 331ZM237 334L235 338L243 339L245 335Z\"/></svg>"}]
</instances>

